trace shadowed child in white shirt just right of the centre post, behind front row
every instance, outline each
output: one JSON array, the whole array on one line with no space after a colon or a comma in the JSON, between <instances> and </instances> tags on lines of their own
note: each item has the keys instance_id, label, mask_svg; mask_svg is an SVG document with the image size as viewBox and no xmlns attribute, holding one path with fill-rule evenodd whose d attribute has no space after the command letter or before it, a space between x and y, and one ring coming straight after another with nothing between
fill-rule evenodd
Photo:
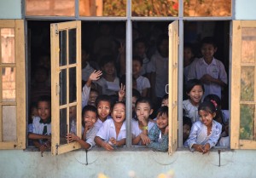
<instances>
[{"instance_id":1,"label":"shadowed child in white shirt just right of the centre post, behind front row","mask_svg":"<svg viewBox=\"0 0 256 178\"><path fill-rule=\"evenodd\" d=\"M150 89L150 83L148 78L141 75L143 67L143 59L140 56L132 57L132 77L136 78L137 90L140 94L145 97L148 95L148 90Z\"/></svg>"}]
</instances>

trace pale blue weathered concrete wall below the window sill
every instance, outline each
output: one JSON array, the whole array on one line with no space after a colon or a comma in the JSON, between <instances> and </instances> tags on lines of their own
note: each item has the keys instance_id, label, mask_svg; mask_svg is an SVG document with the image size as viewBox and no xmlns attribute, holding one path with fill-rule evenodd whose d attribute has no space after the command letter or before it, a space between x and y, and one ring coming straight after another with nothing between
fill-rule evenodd
<instances>
[{"instance_id":1,"label":"pale blue weathered concrete wall below the window sill","mask_svg":"<svg viewBox=\"0 0 256 178\"><path fill-rule=\"evenodd\" d=\"M137 178L157 177L160 173L174 171L175 178L191 177L256 177L256 154L254 151L229 151L202 155L198 152L179 151L172 156L166 152L153 151L90 151L86 165L84 150L41 157L39 152L1 151L1 177L86 177L94 178L104 173L110 178L130 177L134 171Z\"/></svg>"}]
</instances>

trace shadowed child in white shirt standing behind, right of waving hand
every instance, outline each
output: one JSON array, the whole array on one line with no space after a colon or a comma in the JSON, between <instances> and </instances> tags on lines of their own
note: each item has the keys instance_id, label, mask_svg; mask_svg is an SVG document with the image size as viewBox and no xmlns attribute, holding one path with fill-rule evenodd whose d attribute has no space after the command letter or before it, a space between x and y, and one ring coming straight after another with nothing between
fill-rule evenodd
<instances>
[{"instance_id":1,"label":"shadowed child in white shirt standing behind, right of waving hand","mask_svg":"<svg viewBox=\"0 0 256 178\"><path fill-rule=\"evenodd\" d=\"M110 55L102 57L102 78L97 81L102 95L116 95L119 91L119 78L116 77L115 63Z\"/></svg>"}]
</instances>

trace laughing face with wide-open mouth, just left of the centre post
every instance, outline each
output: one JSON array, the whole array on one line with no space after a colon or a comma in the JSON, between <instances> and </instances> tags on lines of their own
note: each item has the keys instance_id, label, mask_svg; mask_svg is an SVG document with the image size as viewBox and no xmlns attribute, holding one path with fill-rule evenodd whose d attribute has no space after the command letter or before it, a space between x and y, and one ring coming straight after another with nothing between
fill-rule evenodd
<instances>
[{"instance_id":1,"label":"laughing face with wide-open mouth, just left of the centre post","mask_svg":"<svg viewBox=\"0 0 256 178\"><path fill-rule=\"evenodd\" d=\"M113 106L111 116L115 123L123 123L125 120L125 105L122 103L118 103Z\"/></svg>"}]
</instances>

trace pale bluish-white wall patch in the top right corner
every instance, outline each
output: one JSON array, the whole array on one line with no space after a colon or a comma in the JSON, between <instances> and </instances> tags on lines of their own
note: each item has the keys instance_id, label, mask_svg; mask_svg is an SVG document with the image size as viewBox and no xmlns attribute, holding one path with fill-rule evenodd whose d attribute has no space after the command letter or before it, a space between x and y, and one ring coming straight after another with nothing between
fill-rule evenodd
<instances>
[{"instance_id":1,"label":"pale bluish-white wall patch in the top right corner","mask_svg":"<svg viewBox=\"0 0 256 178\"><path fill-rule=\"evenodd\" d=\"M256 20L255 0L235 0L236 20Z\"/></svg>"}]
</instances>

